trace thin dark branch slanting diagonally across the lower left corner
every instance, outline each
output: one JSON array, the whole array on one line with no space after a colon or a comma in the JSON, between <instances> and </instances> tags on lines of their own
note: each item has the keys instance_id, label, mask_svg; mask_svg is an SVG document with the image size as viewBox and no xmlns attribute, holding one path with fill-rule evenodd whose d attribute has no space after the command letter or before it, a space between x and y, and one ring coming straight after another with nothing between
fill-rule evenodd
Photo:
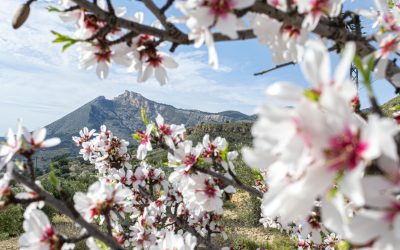
<instances>
[{"instance_id":1,"label":"thin dark branch slanting diagonally across the lower left corner","mask_svg":"<svg viewBox=\"0 0 400 250\"><path fill-rule=\"evenodd\" d=\"M22 174L18 173L15 169L13 170L12 173L14 180L25 185L29 189L33 190L39 197L42 197L47 204L57 209L61 213L65 214L66 216L71 218L74 222L78 223L80 226L85 228L88 234L104 242L104 244L109 246L111 249L122 250L122 247L114 240L113 237L105 235L102 232L100 232L98 228L96 228L94 225L88 223L85 219L83 219L82 216L77 211L68 207L64 202L54 198L51 194L41 189L34 182L29 180Z\"/></svg>"}]
</instances>

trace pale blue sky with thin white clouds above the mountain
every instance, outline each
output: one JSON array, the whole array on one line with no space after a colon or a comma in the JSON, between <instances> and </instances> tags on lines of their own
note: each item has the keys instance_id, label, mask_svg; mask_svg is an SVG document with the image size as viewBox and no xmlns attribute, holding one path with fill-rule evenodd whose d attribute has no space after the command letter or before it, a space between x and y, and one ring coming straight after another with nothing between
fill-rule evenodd
<instances>
[{"instance_id":1,"label":"pale blue sky with thin white clouds above the mountain","mask_svg":"<svg viewBox=\"0 0 400 250\"><path fill-rule=\"evenodd\" d=\"M51 43L50 30L69 34L72 26L47 12L43 3L34 4L27 24L14 31L10 23L21 2L1 0L0 3L0 134L14 127L17 118L23 118L24 124L35 129L97 96L113 98L124 90L179 108L209 112L238 110L253 114L257 106L267 101L264 90L269 84L285 80L308 86L298 66L253 76L254 72L274 66L268 48L255 40L218 44L221 64L218 71L207 65L204 48L178 47L174 56L180 66L168 72L170 82L163 87L154 79L139 84L135 74L118 67L113 67L108 79L100 81L94 70L78 69L75 48L61 53L60 46ZM117 1L120 5L125 3L129 6L128 15L143 10L140 2ZM146 13L145 20L151 23L154 19ZM380 81L374 85L381 103L394 96L390 84ZM364 92L361 89L362 96ZM368 106L365 97L362 101Z\"/></svg>"}]
</instances>

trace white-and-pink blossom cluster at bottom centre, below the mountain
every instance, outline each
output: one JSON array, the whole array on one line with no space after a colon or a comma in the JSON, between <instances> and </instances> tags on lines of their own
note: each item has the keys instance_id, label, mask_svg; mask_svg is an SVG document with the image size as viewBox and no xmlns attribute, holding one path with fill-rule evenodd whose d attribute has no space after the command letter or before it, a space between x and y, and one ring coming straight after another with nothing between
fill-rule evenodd
<instances>
[{"instance_id":1,"label":"white-and-pink blossom cluster at bottom centre, below the mountain","mask_svg":"<svg viewBox=\"0 0 400 250\"><path fill-rule=\"evenodd\" d=\"M220 173L232 178L229 172L234 173L237 152L227 151L225 139L211 141L208 135L193 146L185 139L183 125L166 124L160 115L156 123L146 120L146 124L146 131L133 134L139 143L136 159L140 162L136 165L129 163L129 143L105 126L100 133L84 128L80 137L73 138L82 157L99 173L99 181L87 193L75 194L76 210L89 222L110 220L114 237L127 248L158 249L162 244L173 244L165 241L178 237L182 240L176 244L186 247L179 249L193 249L193 233L202 237L222 233L226 238L219 223L223 193L236 190L199 168L215 164ZM169 150L168 167L173 172L168 178L146 162L148 151L157 146ZM182 230L181 223L194 232ZM171 234L176 231L179 233Z\"/></svg>"}]
</instances>

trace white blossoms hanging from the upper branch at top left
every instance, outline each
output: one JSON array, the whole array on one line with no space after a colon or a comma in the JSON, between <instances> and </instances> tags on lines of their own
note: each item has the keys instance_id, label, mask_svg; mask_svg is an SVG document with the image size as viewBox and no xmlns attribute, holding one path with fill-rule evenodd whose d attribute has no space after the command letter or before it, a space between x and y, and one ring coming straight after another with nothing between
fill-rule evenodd
<instances>
[{"instance_id":1,"label":"white blossoms hanging from the upper branch at top left","mask_svg":"<svg viewBox=\"0 0 400 250\"><path fill-rule=\"evenodd\" d=\"M109 11L105 0L97 1L99 8ZM117 26L107 26L107 22L99 20L96 15L83 8L74 8L72 0L62 0L61 6L70 11L60 13L64 22L72 22L76 31L70 41L79 42L79 67L90 69L96 66L100 79L107 78L113 63L127 67L129 72L137 72L138 82L147 81L153 74L161 85L167 83L166 68L176 68L178 64L166 53L158 51L161 45L152 36L138 34L127 43L113 43L124 31ZM124 7L113 8L117 17L123 17L127 10ZM137 12L128 17L129 20L142 23L144 14ZM159 23L153 24L160 27Z\"/></svg>"}]
</instances>

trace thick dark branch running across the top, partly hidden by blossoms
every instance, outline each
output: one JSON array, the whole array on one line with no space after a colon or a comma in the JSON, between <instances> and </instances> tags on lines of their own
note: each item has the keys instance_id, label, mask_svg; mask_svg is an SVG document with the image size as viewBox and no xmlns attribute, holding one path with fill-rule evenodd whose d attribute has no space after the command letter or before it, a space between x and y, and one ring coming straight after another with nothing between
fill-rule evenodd
<instances>
[{"instance_id":1,"label":"thick dark branch running across the top, partly hidden by blossoms","mask_svg":"<svg viewBox=\"0 0 400 250\"><path fill-rule=\"evenodd\" d=\"M104 21L111 21L115 18L109 12L102 10L97 5L91 3L88 0L72 0L82 8L85 8L95 14L98 18ZM150 2L150 1L146 1ZM161 11L157 8L158 14L163 15ZM297 13L286 13L275 9L274 7L265 3L265 1L258 0L256 3L247 9L248 11L265 14L279 22L283 22L287 25L292 25L296 28L301 28L304 16ZM122 28L137 32L145 33L151 36L158 37L164 41L170 41L176 44L192 44L193 41L189 40L188 35L184 33L170 34L166 30L157 29L151 26L139 24L124 18L115 18L116 24ZM339 25L340 20L335 18L322 17L319 21L317 27L313 32L321 37L331 39L337 43L345 43L347 41L355 41L357 45L357 54L360 57L365 57L375 51L374 46L370 43L370 40L362 35L357 35L346 30L344 26ZM239 32L239 39L252 39L254 34L251 30ZM214 39L216 42L229 41L229 37L226 37L220 33L214 34ZM388 67L386 69L386 79L396 88L395 75L400 73L400 68L393 62L389 61Z\"/></svg>"}]
</instances>

